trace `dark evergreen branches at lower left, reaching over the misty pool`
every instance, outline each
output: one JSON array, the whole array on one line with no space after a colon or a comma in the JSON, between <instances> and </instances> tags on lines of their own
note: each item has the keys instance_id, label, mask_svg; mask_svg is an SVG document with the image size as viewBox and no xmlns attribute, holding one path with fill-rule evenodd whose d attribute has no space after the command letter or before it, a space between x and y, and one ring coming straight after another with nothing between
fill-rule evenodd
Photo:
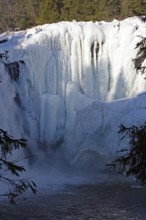
<instances>
[{"instance_id":1,"label":"dark evergreen branches at lower left, reaching over the misty pool","mask_svg":"<svg viewBox=\"0 0 146 220\"><path fill-rule=\"evenodd\" d=\"M18 164L20 158L14 158L13 155L16 150L25 146L25 139L14 139L0 129L0 182L8 187L8 191L1 196L7 196L12 203L28 189L36 193L36 184L33 181L20 178L20 174L26 170L24 166Z\"/></svg>"}]
</instances>

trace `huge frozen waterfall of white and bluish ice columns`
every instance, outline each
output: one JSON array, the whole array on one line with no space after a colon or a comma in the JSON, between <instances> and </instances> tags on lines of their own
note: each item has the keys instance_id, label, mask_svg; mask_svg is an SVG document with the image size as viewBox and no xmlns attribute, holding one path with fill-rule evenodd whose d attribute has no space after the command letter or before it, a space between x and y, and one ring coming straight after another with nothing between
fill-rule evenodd
<instances>
[{"instance_id":1,"label":"huge frozen waterfall of white and bluish ice columns","mask_svg":"<svg viewBox=\"0 0 146 220\"><path fill-rule=\"evenodd\" d=\"M45 151L61 149L71 164L114 154L119 124L146 120L146 23L139 18L4 33L0 59L0 126Z\"/></svg>"}]
</instances>

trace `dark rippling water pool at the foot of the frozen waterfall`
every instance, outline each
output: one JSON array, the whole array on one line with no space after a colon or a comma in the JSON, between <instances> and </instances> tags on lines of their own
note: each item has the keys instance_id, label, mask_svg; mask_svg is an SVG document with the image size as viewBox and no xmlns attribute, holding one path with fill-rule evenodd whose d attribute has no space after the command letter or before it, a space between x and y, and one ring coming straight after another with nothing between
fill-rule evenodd
<instances>
[{"instance_id":1,"label":"dark rippling water pool at the foot of the frozen waterfall","mask_svg":"<svg viewBox=\"0 0 146 220\"><path fill-rule=\"evenodd\" d=\"M0 202L0 220L146 220L146 189L129 184L41 190L16 205Z\"/></svg>"}]
</instances>

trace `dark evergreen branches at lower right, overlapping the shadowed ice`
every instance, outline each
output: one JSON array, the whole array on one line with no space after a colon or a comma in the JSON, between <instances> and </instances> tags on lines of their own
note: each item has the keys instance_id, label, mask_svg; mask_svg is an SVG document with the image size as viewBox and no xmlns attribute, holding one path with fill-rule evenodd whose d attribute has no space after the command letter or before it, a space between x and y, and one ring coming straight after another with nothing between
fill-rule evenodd
<instances>
[{"instance_id":1,"label":"dark evergreen branches at lower right, overlapping the shadowed ice","mask_svg":"<svg viewBox=\"0 0 146 220\"><path fill-rule=\"evenodd\" d=\"M120 125L121 140L127 140L127 147L119 151L122 155L107 166L117 169L126 176L134 176L146 185L146 123L140 127Z\"/></svg>"}]
</instances>

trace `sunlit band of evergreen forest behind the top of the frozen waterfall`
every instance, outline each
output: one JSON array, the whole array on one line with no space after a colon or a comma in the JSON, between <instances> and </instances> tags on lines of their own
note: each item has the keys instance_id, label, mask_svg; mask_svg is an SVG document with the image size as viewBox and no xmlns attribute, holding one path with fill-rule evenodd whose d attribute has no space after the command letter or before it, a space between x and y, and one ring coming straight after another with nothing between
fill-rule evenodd
<instances>
[{"instance_id":1,"label":"sunlit band of evergreen forest behind the top of the frozen waterfall","mask_svg":"<svg viewBox=\"0 0 146 220\"><path fill-rule=\"evenodd\" d=\"M4 32L62 20L141 17L146 14L146 0L0 0L0 13L0 32Z\"/></svg>"}]
</instances>

